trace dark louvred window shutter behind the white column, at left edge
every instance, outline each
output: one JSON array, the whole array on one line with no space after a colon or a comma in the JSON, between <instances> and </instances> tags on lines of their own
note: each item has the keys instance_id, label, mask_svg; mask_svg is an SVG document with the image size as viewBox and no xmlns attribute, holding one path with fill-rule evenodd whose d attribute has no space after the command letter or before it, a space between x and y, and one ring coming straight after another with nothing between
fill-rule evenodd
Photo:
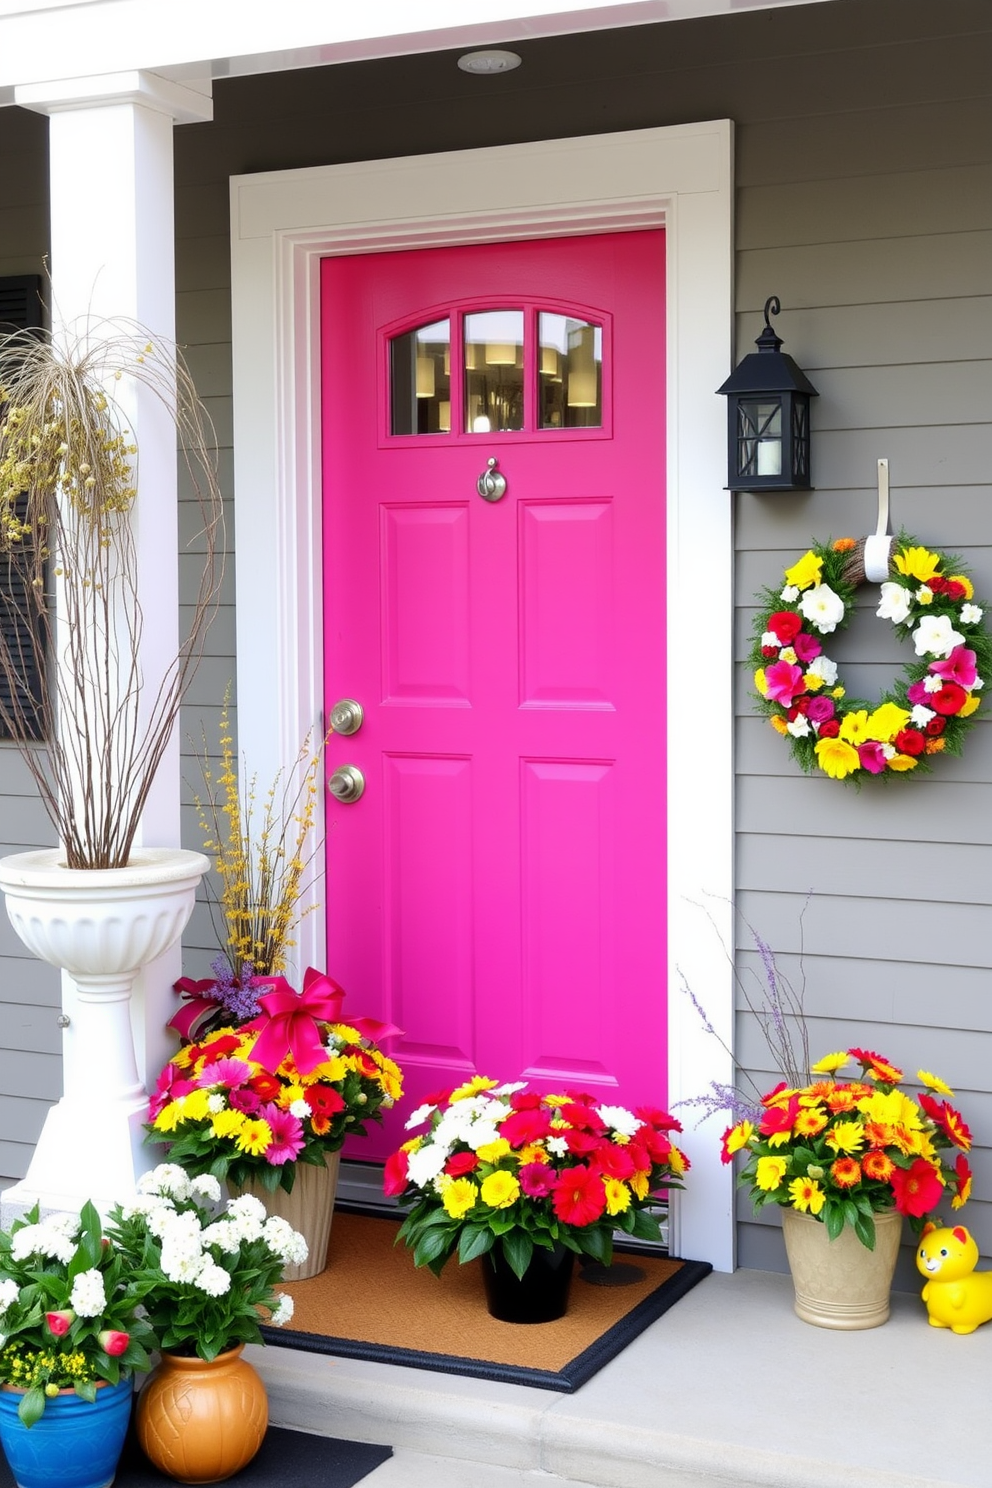
<instances>
[{"instance_id":1,"label":"dark louvred window shutter behind the white column, at left edge","mask_svg":"<svg viewBox=\"0 0 992 1488\"><path fill-rule=\"evenodd\" d=\"M42 275L0 275L0 335L12 330L40 330ZM3 713L21 717L24 738L42 738L42 689L45 684L45 640L34 620L31 597L25 591L22 564L12 564L0 554L0 631L3 631L7 655L19 658L19 698L10 698L10 680L0 673L0 702ZM0 738L12 738L12 732L0 719Z\"/></svg>"}]
</instances>

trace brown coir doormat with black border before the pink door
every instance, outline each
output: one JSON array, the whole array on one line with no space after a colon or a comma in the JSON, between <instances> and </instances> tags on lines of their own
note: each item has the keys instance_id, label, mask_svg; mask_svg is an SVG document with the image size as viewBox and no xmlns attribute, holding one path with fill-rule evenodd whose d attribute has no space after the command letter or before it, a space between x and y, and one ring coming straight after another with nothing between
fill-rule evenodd
<instances>
[{"instance_id":1,"label":"brown coir doormat with black border before the pink door","mask_svg":"<svg viewBox=\"0 0 992 1488\"><path fill-rule=\"evenodd\" d=\"M296 1302L293 1327L265 1329L266 1342L568 1393L712 1269L617 1253L605 1274L576 1265L559 1321L498 1323L486 1312L480 1262L454 1259L440 1277L418 1271L396 1244L397 1229L391 1217L335 1210L327 1269L286 1286ZM587 1280L593 1274L598 1281Z\"/></svg>"}]
</instances>

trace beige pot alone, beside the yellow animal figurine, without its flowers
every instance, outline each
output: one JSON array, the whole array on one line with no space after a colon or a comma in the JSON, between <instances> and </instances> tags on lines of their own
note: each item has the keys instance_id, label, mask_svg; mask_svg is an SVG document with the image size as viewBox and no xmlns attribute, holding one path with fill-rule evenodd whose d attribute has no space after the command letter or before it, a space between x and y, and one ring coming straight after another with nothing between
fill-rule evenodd
<instances>
[{"instance_id":1,"label":"beige pot alone, beside the yellow animal figurine, without its flowers","mask_svg":"<svg viewBox=\"0 0 992 1488\"><path fill-rule=\"evenodd\" d=\"M782 1210L785 1254L796 1289L796 1312L817 1327L879 1327L889 1315L889 1293L903 1234L895 1210L875 1216L875 1250L845 1225L836 1240L827 1226L797 1210Z\"/></svg>"}]
</instances>

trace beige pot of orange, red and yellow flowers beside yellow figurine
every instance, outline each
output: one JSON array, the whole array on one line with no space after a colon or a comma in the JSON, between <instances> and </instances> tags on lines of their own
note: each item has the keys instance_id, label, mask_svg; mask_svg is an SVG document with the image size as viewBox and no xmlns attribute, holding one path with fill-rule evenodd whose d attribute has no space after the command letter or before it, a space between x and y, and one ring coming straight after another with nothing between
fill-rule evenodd
<instances>
[{"instance_id":1,"label":"beige pot of orange, red and yellow flowers beside yellow figurine","mask_svg":"<svg viewBox=\"0 0 992 1488\"><path fill-rule=\"evenodd\" d=\"M860 1077L839 1080L851 1061ZM918 1071L924 1089L915 1097L901 1089L903 1071L870 1049L830 1054L811 1073L819 1077L782 1080L754 1119L730 1126L723 1161L744 1153L739 1180L754 1207L782 1210L799 1315L824 1327L876 1327L889 1311L903 1217L919 1231L944 1199L952 1208L968 1199L971 1132L947 1101L952 1089L928 1070ZM814 1295L831 1253L836 1283L830 1295ZM854 1280L860 1262L863 1284Z\"/></svg>"}]
</instances>

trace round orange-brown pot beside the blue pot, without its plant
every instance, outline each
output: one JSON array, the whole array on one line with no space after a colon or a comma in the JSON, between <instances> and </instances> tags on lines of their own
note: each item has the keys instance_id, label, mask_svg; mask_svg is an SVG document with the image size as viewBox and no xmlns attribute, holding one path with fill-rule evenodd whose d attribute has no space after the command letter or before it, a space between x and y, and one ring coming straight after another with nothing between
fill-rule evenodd
<instances>
[{"instance_id":1,"label":"round orange-brown pot beside the blue pot, without its plant","mask_svg":"<svg viewBox=\"0 0 992 1488\"><path fill-rule=\"evenodd\" d=\"M181 1484L217 1484L241 1472L269 1424L265 1385L244 1344L216 1359L162 1354L138 1394L135 1426L146 1457Z\"/></svg>"}]
</instances>

